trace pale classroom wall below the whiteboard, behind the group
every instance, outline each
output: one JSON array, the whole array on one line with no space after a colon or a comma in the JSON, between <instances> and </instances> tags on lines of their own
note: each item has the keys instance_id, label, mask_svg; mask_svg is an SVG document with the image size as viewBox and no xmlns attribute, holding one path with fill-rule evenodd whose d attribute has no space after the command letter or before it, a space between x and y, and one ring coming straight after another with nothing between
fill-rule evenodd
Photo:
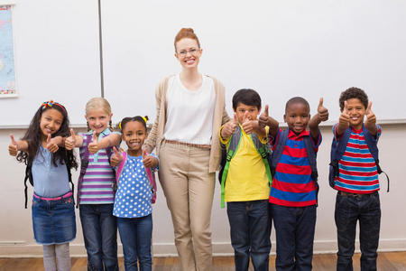
<instances>
[{"instance_id":1,"label":"pale classroom wall below the whiteboard, behind the group","mask_svg":"<svg viewBox=\"0 0 406 271\"><path fill-rule=\"evenodd\" d=\"M79 130L79 129L78 129ZM321 127L323 143L318 153L319 172L319 207L316 225L315 253L336 252L337 236L334 223L335 192L328 186L328 161L329 148L331 145L331 126ZM23 209L23 164L17 164L14 157L7 154L10 143L9 134L13 133L16 138L23 135L23 130L0 129L0 257L42 257L42 247L36 245L32 234L31 201L29 209ZM404 182L404 160L401 154L406 153L404 138L406 136L406 124L383 125L381 137L380 158L383 170L391 178L391 192L387 193L387 182L381 176L381 204L382 224L380 251L406 250L406 182ZM78 173L74 173L77 180ZM173 243L173 229L171 226L170 212L158 187L158 200L153 206L153 254L154 256L176 256L176 248ZM30 188L32 195L32 188ZM212 224L213 253L214 255L230 255L233 250L230 245L229 226L226 218L226 210L219 208L219 185L216 185L215 201L213 203ZM78 234L70 245L71 256L85 256L80 221L77 215ZM272 253L274 246L274 229L272 229ZM121 247L120 247L121 249ZM121 250L120 250L121 253Z\"/></svg>"}]
</instances>

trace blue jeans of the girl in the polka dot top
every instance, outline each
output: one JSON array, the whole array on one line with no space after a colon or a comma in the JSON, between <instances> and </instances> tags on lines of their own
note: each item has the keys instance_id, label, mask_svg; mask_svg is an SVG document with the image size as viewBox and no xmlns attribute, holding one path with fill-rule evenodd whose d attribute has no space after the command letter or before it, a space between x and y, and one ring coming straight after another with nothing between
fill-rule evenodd
<instances>
[{"instance_id":1,"label":"blue jeans of the girl in the polka dot top","mask_svg":"<svg viewBox=\"0 0 406 271\"><path fill-rule=\"evenodd\" d=\"M118 231L125 255L125 271L152 270L152 214L135 219L117 218Z\"/></svg>"}]
</instances>

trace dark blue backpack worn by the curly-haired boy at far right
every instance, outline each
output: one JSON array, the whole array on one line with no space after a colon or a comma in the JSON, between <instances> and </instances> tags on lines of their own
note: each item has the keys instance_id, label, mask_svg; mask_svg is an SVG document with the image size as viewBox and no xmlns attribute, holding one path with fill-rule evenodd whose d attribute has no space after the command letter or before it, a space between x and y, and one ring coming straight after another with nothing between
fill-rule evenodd
<instances>
[{"instance_id":1,"label":"dark blue backpack worn by the curly-haired boy at far right","mask_svg":"<svg viewBox=\"0 0 406 271\"><path fill-rule=\"evenodd\" d=\"M379 165L379 151L377 146L377 140L374 138L371 133L369 133L368 129L364 127L363 124L363 133L366 145L368 145L368 149L372 154L375 164L376 164L376 171L378 174L384 173ZM341 139L337 142L336 138L333 137L333 142L331 144L331 153L330 153L330 168L328 173L328 182L332 188L334 188L335 181L334 179L339 176L339 169L338 169L338 162L343 157L344 153L346 152L346 144L351 135L351 127L348 127L343 135L341 135ZM388 174L386 175L386 179L388 180L388 190L389 192L389 177Z\"/></svg>"}]
</instances>

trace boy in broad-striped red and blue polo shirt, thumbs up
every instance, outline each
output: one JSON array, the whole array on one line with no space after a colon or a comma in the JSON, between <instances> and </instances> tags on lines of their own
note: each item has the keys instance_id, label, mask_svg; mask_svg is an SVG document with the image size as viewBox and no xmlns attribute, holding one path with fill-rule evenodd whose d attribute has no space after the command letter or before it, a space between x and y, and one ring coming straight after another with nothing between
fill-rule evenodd
<instances>
[{"instance_id":1,"label":"boy in broad-striped red and blue polo shirt, thumbs up","mask_svg":"<svg viewBox=\"0 0 406 271\"><path fill-rule=\"evenodd\" d=\"M282 148L269 197L270 217L276 232L276 270L311 270L312 267L318 186L310 164L316 164L321 143L318 125L328 120L323 98L318 103L318 113L311 119L309 112L306 99L295 97L285 107L283 118L287 131L281 131L278 122L268 116L267 107L259 118L260 126L270 127L273 154L277 147ZM314 161L310 162L310 157ZM272 156L272 159L276 158Z\"/></svg>"}]
</instances>

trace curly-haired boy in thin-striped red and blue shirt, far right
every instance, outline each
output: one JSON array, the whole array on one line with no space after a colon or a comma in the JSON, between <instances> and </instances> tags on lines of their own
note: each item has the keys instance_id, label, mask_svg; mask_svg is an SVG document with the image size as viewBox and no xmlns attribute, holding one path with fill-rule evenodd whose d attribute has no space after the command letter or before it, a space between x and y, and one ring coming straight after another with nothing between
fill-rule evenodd
<instances>
[{"instance_id":1,"label":"curly-haired boy in thin-striped red and blue shirt, far right","mask_svg":"<svg viewBox=\"0 0 406 271\"><path fill-rule=\"evenodd\" d=\"M337 270L353 270L357 220L361 270L376 270L381 204L377 167L366 140L369 136L376 146L382 128L376 124L372 102L368 103L364 90L346 89L341 93L339 106L341 116L333 126L333 146L339 144L345 133L350 134L346 151L338 161L338 176L334 179L334 189L337 190Z\"/></svg>"}]
</instances>

